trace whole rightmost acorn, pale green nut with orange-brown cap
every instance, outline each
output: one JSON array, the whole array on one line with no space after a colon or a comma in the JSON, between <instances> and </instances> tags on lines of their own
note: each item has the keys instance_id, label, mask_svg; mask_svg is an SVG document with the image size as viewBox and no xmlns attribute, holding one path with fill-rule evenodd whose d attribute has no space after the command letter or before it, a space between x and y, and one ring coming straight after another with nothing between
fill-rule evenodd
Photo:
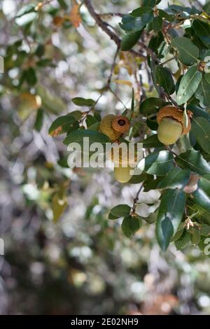
<instances>
[{"instance_id":1,"label":"whole rightmost acorn, pale green nut with orange-brown cap","mask_svg":"<svg viewBox=\"0 0 210 329\"><path fill-rule=\"evenodd\" d=\"M158 139L162 144L171 145L174 144L181 135L188 134L191 129L190 118L193 113L188 113L188 126L184 125L183 111L175 106L165 106L158 112L157 122L158 126Z\"/></svg>"}]
</instances>

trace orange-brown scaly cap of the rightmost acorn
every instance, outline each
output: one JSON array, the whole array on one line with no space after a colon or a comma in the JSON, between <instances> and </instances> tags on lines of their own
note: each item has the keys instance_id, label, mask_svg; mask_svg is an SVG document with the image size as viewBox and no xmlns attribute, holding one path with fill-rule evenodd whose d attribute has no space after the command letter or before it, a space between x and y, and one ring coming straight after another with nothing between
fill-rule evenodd
<instances>
[{"instance_id":1,"label":"orange-brown scaly cap of the rightmost acorn","mask_svg":"<svg viewBox=\"0 0 210 329\"><path fill-rule=\"evenodd\" d=\"M161 120L163 118L172 118L176 121L179 121L179 123L181 123L182 127L183 127L183 131L182 134L186 135L188 134L188 132L190 132L191 129L191 121L190 118L193 117L193 113L191 111L187 111L188 113L188 127L185 127L184 125L184 121L183 121L183 111L178 109L175 106L164 106L162 107L162 109L160 109L160 111L157 114L157 122L158 124L160 124Z\"/></svg>"}]
</instances>

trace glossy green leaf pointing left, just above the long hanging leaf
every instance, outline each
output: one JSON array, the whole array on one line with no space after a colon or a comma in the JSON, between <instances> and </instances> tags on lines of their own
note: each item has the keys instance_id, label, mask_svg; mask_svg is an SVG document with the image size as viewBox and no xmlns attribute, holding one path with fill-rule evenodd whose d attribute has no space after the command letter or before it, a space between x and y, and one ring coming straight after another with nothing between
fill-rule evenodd
<instances>
[{"instance_id":1,"label":"glossy green leaf pointing left, just above the long hanging leaf","mask_svg":"<svg viewBox=\"0 0 210 329\"><path fill-rule=\"evenodd\" d=\"M190 170L189 169L180 169L178 167L173 168L165 176L162 181L158 184L158 188L179 188L183 189L190 179Z\"/></svg>"}]
</instances>

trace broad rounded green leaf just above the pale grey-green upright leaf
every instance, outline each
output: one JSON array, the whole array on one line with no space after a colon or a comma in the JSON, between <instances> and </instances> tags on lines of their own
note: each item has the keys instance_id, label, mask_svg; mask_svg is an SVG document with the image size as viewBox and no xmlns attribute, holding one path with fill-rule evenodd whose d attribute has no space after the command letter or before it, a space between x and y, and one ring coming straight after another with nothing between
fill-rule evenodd
<instances>
[{"instance_id":1,"label":"broad rounded green leaf just above the pale grey-green upright leaf","mask_svg":"<svg viewBox=\"0 0 210 329\"><path fill-rule=\"evenodd\" d=\"M183 64L193 65L199 57L199 48L193 42L184 37L177 36L172 40L172 47L179 51L179 59Z\"/></svg>"}]
</instances>

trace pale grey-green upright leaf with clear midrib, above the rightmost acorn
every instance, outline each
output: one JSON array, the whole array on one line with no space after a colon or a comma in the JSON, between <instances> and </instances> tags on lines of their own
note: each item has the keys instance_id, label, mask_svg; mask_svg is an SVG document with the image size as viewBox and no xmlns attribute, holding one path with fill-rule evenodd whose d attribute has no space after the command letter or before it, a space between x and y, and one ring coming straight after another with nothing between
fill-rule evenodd
<instances>
[{"instance_id":1,"label":"pale grey-green upright leaf with clear midrib, above the rightmost acorn","mask_svg":"<svg viewBox=\"0 0 210 329\"><path fill-rule=\"evenodd\" d=\"M188 69L187 73L181 78L179 90L177 92L177 103L183 104L193 96L197 90L198 85L202 80L202 73L197 71L197 66L192 66Z\"/></svg>"}]
</instances>

